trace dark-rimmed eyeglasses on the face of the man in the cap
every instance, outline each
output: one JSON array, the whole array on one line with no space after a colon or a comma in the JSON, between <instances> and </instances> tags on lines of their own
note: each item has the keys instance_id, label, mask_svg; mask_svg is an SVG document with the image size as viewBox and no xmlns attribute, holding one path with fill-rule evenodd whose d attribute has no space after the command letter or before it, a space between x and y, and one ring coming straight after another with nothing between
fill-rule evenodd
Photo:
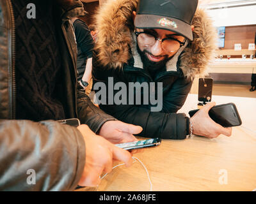
<instances>
[{"instance_id":1,"label":"dark-rimmed eyeglasses on the face of the man in the cap","mask_svg":"<svg viewBox=\"0 0 256 204\"><path fill-rule=\"evenodd\" d=\"M176 52L186 43L186 39L183 42L176 39L175 36L177 36L177 34L171 34L170 36L173 36L173 38L169 37L159 39L156 35L150 33L149 31L137 32L135 30L134 33L137 36L138 41L140 41L141 45L145 47L154 45L157 40L161 41L161 46L166 52Z\"/></svg>"}]
</instances>

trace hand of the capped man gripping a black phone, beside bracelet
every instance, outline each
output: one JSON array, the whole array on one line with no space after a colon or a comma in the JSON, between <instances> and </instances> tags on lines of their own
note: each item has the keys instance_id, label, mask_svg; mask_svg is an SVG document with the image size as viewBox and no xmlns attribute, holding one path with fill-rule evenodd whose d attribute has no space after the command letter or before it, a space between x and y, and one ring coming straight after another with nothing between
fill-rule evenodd
<instances>
[{"instance_id":1,"label":"hand of the capped man gripping a black phone, beside bracelet","mask_svg":"<svg viewBox=\"0 0 256 204\"><path fill-rule=\"evenodd\" d=\"M209 116L209 110L215 105L215 102L208 103L191 117L190 122L193 124L194 135L207 138L216 138L220 134L231 136L232 128L223 128Z\"/></svg>"}]
</instances>

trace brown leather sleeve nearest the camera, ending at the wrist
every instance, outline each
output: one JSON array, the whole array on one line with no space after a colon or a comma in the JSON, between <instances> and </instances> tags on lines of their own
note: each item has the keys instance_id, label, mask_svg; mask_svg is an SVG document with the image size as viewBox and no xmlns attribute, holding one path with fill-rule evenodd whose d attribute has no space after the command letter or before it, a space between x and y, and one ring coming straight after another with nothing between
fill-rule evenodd
<instances>
[{"instance_id":1,"label":"brown leather sleeve nearest the camera, ending at the wrist","mask_svg":"<svg viewBox=\"0 0 256 204\"><path fill-rule=\"evenodd\" d=\"M73 191L84 164L77 128L53 120L0 120L0 191Z\"/></svg>"}]
</instances>

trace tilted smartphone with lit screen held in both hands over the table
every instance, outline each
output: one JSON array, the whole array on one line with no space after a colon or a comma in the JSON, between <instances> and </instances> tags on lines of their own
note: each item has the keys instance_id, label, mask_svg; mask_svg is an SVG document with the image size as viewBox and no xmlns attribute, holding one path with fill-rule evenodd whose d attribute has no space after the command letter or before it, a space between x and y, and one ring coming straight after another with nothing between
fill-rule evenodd
<instances>
[{"instance_id":1,"label":"tilted smartphone with lit screen held in both hands over the table","mask_svg":"<svg viewBox=\"0 0 256 204\"><path fill-rule=\"evenodd\" d=\"M116 147L120 147L125 150L140 149L144 147L154 147L161 144L161 138L152 138L148 140L140 140L136 142L127 142L116 144Z\"/></svg>"}]
</instances>

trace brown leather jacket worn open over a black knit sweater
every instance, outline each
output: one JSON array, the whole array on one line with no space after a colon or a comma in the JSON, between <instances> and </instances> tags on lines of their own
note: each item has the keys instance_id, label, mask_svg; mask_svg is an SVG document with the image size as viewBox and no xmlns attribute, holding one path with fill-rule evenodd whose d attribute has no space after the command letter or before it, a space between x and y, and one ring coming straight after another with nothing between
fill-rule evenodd
<instances>
[{"instance_id":1,"label":"brown leather jacket worn open over a black knit sweater","mask_svg":"<svg viewBox=\"0 0 256 204\"><path fill-rule=\"evenodd\" d=\"M78 117L97 132L104 122L115 119L95 107L83 91L77 91L77 50L70 18L84 13L83 4L73 0L71 6L61 4L60 9L68 47L60 48L61 57L72 59L64 68L68 118ZM81 133L53 120L15 120L15 90L12 0L0 0L0 191L74 190L85 164ZM29 182L31 170L35 171L35 184Z\"/></svg>"}]
</instances>

